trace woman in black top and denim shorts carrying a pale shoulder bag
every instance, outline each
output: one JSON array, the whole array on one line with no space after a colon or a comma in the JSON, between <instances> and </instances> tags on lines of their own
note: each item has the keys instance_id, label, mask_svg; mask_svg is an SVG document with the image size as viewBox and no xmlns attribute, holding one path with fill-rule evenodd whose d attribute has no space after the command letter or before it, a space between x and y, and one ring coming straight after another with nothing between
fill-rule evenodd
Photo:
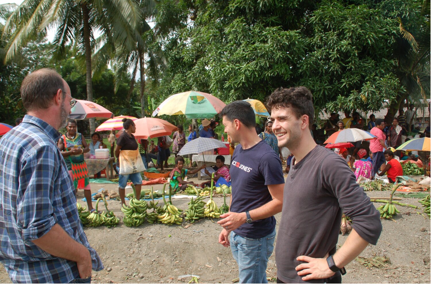
<instances>
[{"instance_id":1,"label":"woman in black top and denim shorts carrying a pale shoulder bag","mask_svg":"<svg viewBox=\"0 0 431 284\"><path fill-rule=\"evenodd\" d=\"M122 121L125 131L117 139L115 156L117 157L117 169L119 173L118 191L120 194L121 203L126 204L126 201L124 199L125 188L129 179L135 185L136 198L141 198L141 172L145 170L145 167L144 162L141 158L141 154L139 153L136 139L132 134L135 133L136 126L133 120L129 118L124 118Z\"/></svg>"}]
</instances>

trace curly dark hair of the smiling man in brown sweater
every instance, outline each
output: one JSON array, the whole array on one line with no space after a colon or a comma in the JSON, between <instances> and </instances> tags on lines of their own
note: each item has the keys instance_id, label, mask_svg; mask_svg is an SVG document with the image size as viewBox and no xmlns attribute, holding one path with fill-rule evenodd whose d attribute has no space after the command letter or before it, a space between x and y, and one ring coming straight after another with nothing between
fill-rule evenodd
<instances>
[{"instance_id":1,"label":"curly dark hair of the smiling man in brown sweater","mask_svg":"<svg viewBox=\"0 0 431 284\"><path fill-rule=\"evenodd\" d=\"M298 119L306 114L311 129L314 118L313 95L306 87L278 88L266 99L265 105L268 110L292 108Z\"/></svg>"}]
</instances>

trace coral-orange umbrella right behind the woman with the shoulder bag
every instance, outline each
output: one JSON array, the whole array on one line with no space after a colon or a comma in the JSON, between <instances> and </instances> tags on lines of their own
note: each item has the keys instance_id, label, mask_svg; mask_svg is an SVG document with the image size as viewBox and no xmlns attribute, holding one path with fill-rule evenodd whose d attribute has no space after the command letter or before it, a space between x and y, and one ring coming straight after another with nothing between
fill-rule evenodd
<instances>
[{"instance_id":1,"label":"coral-orange umbrella right behind the woman with the shoulder bag","mask_svg":"<svg viewBox=\"0 0 431 284\"><path fill-rule=\"evenodd\" d=\"M178 128L166 120L154 117L144 117L134 120L136 132L133 133L136 139L148 139L160 136L171 135ZM118 137L124 131L120 130L116 136Z\"/></svg>"}]
</instances>

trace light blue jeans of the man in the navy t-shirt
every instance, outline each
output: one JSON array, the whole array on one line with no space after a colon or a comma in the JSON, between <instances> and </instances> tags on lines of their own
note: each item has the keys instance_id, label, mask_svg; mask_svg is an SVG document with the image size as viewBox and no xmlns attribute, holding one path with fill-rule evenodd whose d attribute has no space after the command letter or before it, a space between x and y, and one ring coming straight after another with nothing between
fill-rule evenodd
<instances>
[{"instance_id":1,"label":"light blue jeans of the man in the navy t-shirt","mask_svg":"<svg viewBox=\"0 0 431 284\"><path fill-rule=\"evenodd\" d=\"M266 265L274 250L275 230L260 238L244 238L231 232L231 250L239 269L239 283L268 283Z\"/></svg>"}]
</instances>

